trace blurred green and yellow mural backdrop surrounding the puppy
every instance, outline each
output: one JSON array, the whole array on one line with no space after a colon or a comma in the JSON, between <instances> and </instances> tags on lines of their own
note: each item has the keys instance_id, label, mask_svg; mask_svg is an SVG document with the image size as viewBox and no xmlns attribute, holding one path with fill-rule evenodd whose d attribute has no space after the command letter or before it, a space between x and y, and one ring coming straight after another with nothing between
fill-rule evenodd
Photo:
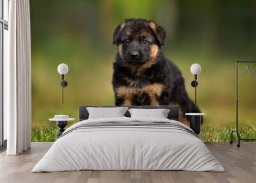
<instances>
[{"instance_id":1,"label":"blurred green and yellow mural backdrop surrounding the puppy","mask_svg":"<svg viewBox=\"0 0 256 183\"><path fill-rule=\"evenodd\" d=\"M234 127L236 60L256 60L256 1L31 0L30 8L32 134L38 135L34 141L52 140L47 138L48 132L38 133L56 130L48 122L53 115L67 114L78 120L79 105L115 104L111 77L116 46L112 35L125 18L152 19L163 26L163 51L182 70L192 99L189 68L193 63L202 65L198 105L207 114L205 129ZM57 72L60 63L69 67L65 104L61 104ZM245 66L241 65L240 74ZM250 67L254 70L256 64ZM239 120L250 124L253 133L255 84L256 74L241 77Z\"/></svg>"}]
</instances>

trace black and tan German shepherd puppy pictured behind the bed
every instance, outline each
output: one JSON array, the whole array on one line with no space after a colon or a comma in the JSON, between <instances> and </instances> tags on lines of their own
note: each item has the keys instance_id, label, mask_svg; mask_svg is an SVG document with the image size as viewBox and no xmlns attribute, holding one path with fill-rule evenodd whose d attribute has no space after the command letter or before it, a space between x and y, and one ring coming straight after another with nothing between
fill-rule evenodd
<instances>
[{"instance_id":1,"label":"black and tan German shepherd puppy pictured behind the bed","mask_svg":"<svg viewBox=\"0 0 256 183\"><path fill-rule=\"evenodd\" d=\"M165 31L146 19L125 19L114 31L116 61L113 90L116 106L164 106L177 104L184 113L200 113L189 99L179 68L164 57ZM188 123L187 123L188 124Z\"/></svg>"}]
</instances>

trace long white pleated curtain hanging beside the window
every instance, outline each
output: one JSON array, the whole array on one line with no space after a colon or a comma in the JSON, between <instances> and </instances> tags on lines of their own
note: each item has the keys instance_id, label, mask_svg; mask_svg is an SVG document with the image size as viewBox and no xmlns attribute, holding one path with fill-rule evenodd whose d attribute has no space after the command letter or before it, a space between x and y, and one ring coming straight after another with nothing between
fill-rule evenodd
<instances>
[{"instance_id":1,"label":"long white pleated curtain hanging beside the window","mask_svg":"<svg viewBox=\"0 0 256 183\"><path fill-rule=\"evenodd\" d=\"M9 59L4 63L4 120L8 155L31 145L31 52L29 0L10 0Z\"/></svg>"}]
</instances>

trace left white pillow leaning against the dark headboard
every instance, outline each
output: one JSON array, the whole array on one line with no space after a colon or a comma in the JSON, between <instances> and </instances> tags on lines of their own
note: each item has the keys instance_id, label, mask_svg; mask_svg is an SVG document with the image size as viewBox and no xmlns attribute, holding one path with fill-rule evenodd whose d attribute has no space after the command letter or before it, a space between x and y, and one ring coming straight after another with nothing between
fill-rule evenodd
<instances>
[{"instance_id":1,"label":"left white pillow leaning against the dark headboard","mask_svg":"<svg viewBox=\"0 0 256 183\"><path fill-rule=\"evenodd\" d=\"M89 113L89 119L95 118L120 118L125 117L124 114L128 107L86 107Z\"/></svg>"}]
</instances>

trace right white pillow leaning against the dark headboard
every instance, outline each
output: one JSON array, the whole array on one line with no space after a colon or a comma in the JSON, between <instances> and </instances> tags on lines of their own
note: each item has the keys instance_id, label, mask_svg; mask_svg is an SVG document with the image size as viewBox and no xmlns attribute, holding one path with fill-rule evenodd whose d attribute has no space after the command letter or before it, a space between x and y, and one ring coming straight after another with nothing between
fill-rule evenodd
<instances>
[{"instance_id":1,"label":"right white pillow leaning against the dark headboard","mask_svg":"<svg viewBox=\"0 0 256 183\"><path fill-rule=\"evenodd\" d=\"M170 109L128 109L131 118L167 118Z\"/></svg>"}]
</instances>

